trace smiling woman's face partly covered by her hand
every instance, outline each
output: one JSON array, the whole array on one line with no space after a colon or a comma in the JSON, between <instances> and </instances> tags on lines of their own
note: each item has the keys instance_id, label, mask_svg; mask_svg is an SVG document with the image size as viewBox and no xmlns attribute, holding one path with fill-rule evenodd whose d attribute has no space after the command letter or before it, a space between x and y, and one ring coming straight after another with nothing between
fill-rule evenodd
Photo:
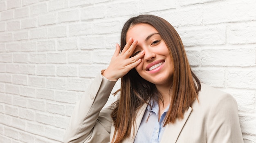
<instances>
[{"instance_id":1,"label":"smiling woman's face partly covered by her hand","mask_svg":"<svg viewBox=\"0 0 256 143\"><path fill-rule=\"evenodd\" d=\"M173 82L173 61L158 31L149 24L136 24L129 28L126 41L130 37L138 41L132 56L145 51L141 63L135 67L139 75L156 86L169 87Z\"/></svg>"}]
</instances>

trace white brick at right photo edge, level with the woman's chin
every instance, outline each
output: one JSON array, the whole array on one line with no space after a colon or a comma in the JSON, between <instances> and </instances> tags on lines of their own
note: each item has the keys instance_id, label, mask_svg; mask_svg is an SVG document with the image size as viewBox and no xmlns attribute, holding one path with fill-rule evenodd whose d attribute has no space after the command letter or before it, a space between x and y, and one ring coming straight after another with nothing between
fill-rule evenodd
<instances>
[{"instance_id":1,"label":"white brick at right photo edge, level with the woman's chin","mask_svg":"<svg viewBox=\"0 0 256 143\"><path fill-rule=\"evenodd\" d=\"M227 87L256 89L255 69L234 69L227 72Z\"/></svg>"}]
</instances>

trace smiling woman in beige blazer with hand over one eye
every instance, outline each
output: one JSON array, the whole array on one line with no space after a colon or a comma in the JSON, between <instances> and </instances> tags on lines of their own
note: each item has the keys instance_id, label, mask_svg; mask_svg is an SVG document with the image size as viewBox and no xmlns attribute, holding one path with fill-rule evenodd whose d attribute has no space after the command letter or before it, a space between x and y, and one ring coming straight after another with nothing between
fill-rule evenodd
<instances>
[{"instance_id":1,"label":"smiling woman in beige blazer with hand over one eye","mask_svg":"<svg viewBox=\"0 0 256 143\"><path fill-rule=\"evenodd\" d=\"M120 97L103 108L119 78ZM243 143L234 98L200 83L175 29L153 15L124 24L121 47L75 106L64 140Z\"/></svg>"}]
</instances>

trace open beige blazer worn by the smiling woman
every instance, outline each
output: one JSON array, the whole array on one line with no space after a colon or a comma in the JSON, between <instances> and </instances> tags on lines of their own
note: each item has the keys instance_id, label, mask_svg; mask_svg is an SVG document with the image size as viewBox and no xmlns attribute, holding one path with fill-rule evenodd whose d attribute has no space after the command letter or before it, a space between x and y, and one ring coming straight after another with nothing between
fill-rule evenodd
<instances>
[{"instance_id":1,"label":"open beige blazer worn by the smiling woman","mask_svg":"<svg viewBox=\"0 0 256 143\"><path fill-rule=\"evenodd\" d=\"M110 117L112 110L103 106L115 83L101 74L93 80L74 108L64 143L112 141L115 131ZM199 102L195 100L182 120L166 126L161 143L243 143L236 100L204 84L198 98ZM135 135L124 139L123 143L134 142L146 106L137 111Z\"/></svg>"}]
</instances>

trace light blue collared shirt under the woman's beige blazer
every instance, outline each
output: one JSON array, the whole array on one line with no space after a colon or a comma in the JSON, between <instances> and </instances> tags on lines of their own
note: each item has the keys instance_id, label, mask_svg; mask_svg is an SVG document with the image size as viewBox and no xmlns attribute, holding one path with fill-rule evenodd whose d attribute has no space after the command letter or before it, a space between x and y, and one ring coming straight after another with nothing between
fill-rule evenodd
<instances>
[{"instance_id":1,"label":"light blue collared shirt under the woman's beige blazer","mask_svg":"<svg viewBox=\"0 0 256 143\"><path fill-rule=\"evenodd\" d=\"M150 102L150 104L152 106L153 102ZM141 120L134 143L159 143L164 133L165 127L163 127L163 124L168 109L169 106L164 110L164 113L161 115L160 120L158 121L158 104L155 103L152 110L150 110L150 106L148 105Z\"/></svg>"}]
</instances>

